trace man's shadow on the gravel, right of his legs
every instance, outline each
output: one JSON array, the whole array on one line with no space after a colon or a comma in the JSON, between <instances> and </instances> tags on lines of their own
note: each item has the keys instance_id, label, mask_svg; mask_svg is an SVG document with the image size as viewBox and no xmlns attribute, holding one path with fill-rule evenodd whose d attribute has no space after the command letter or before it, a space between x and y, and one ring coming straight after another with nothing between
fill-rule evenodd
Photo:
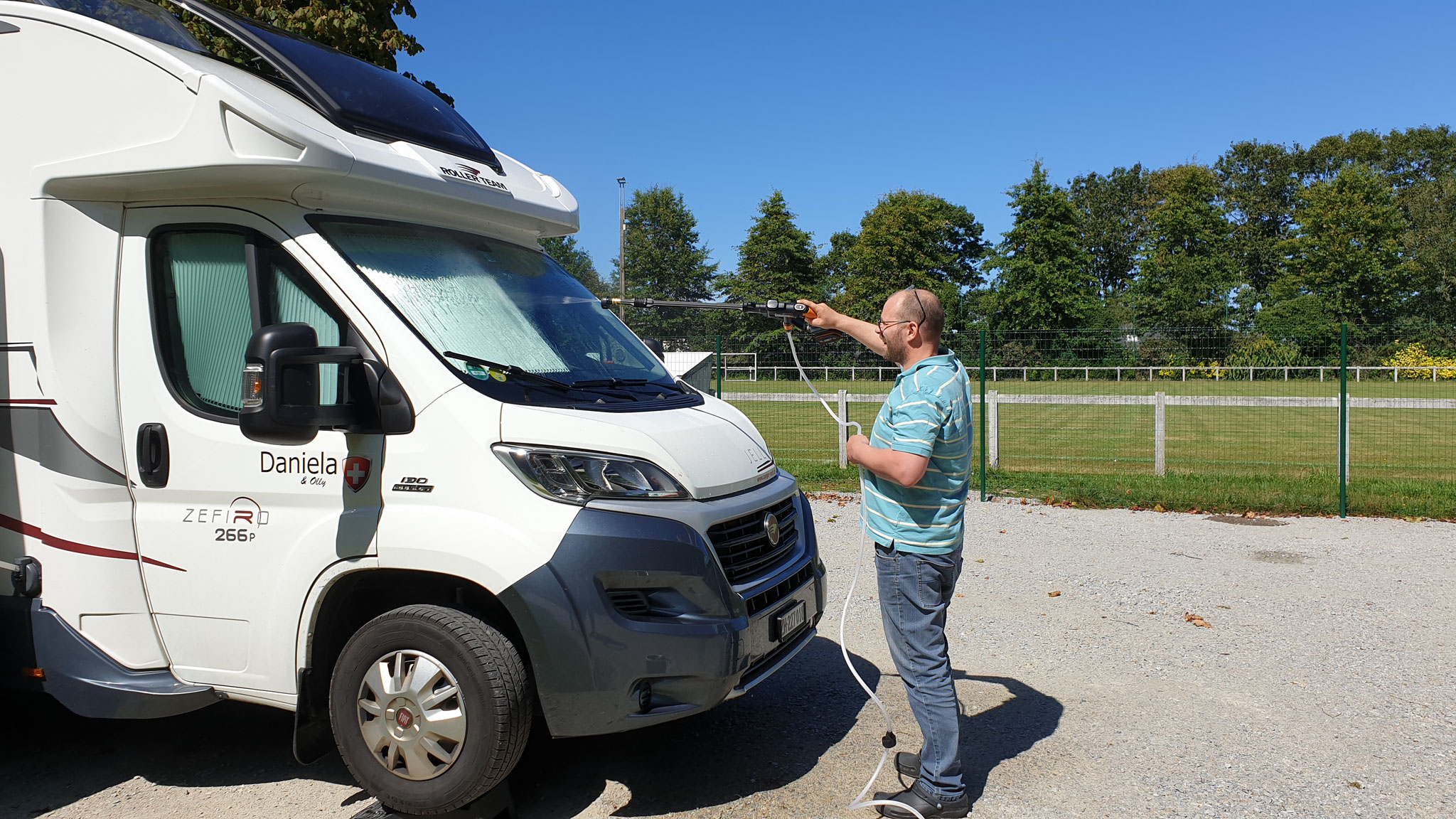
<instances>
[{"instance_id":1,"label":"man's shadow on the gravel, right of his legs","mask_svg":"<svg viewBox=\"0 0 1456 819\"><path fill-rule=\"evenodd\" d=\"M986 793L996 765L1051 736L1066 708L1054 697L1009 676L980 676L957 670L955 679L1000 685L1010 700L980 714L961 714L961 771L971 806Z\"/></svg>"}]
</instances>

